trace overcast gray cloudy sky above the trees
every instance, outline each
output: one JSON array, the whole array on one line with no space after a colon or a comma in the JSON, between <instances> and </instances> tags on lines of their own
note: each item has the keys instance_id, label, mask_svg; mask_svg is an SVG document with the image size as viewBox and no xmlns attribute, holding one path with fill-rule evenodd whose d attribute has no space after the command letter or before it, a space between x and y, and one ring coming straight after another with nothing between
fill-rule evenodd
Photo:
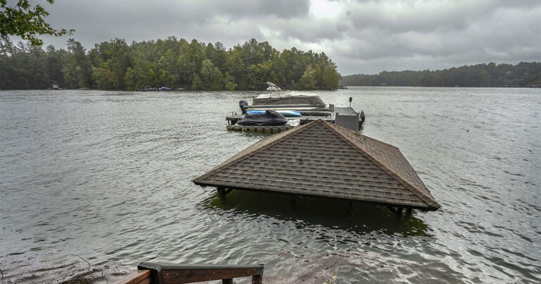
<instances>
[{"instance_id":1,"label":"overcast gray cloudy sky above the trees","mask_svg":"<svg viewBox=\"0 0 541 284\"><path fill-rule=\"evenodd\" d=\"M44 2L44 1L42 1ZM56 0L55 28L87 49L115 37L325 52L342 75L541 61L540 0ZM68 37L42 37L65 48Z\"/></svg>"}]
</instances>

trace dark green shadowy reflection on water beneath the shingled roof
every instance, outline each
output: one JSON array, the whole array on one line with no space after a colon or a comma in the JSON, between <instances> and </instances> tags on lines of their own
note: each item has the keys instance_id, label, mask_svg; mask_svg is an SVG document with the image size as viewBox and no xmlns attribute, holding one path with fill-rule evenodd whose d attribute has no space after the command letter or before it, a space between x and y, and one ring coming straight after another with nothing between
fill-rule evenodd
<instances>
[{"instance_id":1,"label":"dark green shadowy reflection on water beneath the shingled roof","mask_svg":"<svg viewBox=\"0 0 541 284\"><path fill-rule=\"evenodd\" d=\"M299 196L292 202L290 195L233 190L221 197L216 193L204 199L200 205L203 209L211 210L209 214L224 215L223 211L228 211L228 215L255 215L293 221L299 229L318 226L323 230L316 238L322 242L328 240L325 235L327 230L344 230L352 235L378 232L401 237L430 237L430 228L415 217L419 214L416 210L411 216L404 213L398 217L384 206L366 202L353 202L353 209L349 212L347 203L342 199ZM346 244L356 240L344 238L340 242Z\"/></svg>"}]
</instances>

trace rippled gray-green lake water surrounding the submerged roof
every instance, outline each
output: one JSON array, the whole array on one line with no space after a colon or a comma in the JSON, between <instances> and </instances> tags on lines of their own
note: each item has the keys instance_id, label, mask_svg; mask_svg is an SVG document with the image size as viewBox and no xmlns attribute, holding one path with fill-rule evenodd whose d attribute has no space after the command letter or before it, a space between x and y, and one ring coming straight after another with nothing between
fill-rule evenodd
<instances>
[{"instance_id":1,"label":"rippled gray-green lake water surrounding the submerged roof","mask_svg":"<svg viewBox=\"0 0 541 284\"><path fill-rule=\"evenodd\" d=\"M442 205L402 221L191 183L261 139L225 130L255 94L1 91L4 283L87 273L80 257L103 281L139 261L264 263L269 282L540 280L541 89L321 92L353 97L363 134L399 147Z\"/></svg>"}]
</instances>

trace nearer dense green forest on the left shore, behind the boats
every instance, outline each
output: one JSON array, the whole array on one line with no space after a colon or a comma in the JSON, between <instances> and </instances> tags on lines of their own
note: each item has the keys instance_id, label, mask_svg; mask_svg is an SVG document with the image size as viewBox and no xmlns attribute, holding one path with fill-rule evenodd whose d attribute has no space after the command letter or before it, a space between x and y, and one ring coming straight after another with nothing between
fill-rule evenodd
<instances>
[{"instance_id":1,"label":"nearer dense green forest on the left shore, behind the boats","mask_svg":"<svg viewBox=\"0 0 541 284\"><path fill-rule=\"evenodd\" d=\"M67 49L0 40L0 89L62 88L135 90L264 89L271 81L284 89L337 89L340 74L325 53L282 52L251 39L232 49L192 39L168 37L132 42L112 39L87 50L69 39Z\"/></svg>"}]
</instances>

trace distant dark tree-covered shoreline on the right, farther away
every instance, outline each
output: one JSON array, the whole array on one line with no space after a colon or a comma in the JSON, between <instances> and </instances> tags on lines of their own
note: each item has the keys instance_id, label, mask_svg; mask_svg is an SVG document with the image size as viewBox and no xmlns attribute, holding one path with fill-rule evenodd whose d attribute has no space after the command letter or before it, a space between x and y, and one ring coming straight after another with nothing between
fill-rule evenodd
<instances>
[{"instance_id":1,"label":"distant dark tree-covered shoreline on the right, farther away","mask_svg":"<svg viewBox=\"0 0 541 284\"><path fill-rule=\"evenodd\" d=\"M530 87L541 84L541 63L477 64L444 70L347 75L340 85L421 87Z\"/></svg>"}]
</instances>

